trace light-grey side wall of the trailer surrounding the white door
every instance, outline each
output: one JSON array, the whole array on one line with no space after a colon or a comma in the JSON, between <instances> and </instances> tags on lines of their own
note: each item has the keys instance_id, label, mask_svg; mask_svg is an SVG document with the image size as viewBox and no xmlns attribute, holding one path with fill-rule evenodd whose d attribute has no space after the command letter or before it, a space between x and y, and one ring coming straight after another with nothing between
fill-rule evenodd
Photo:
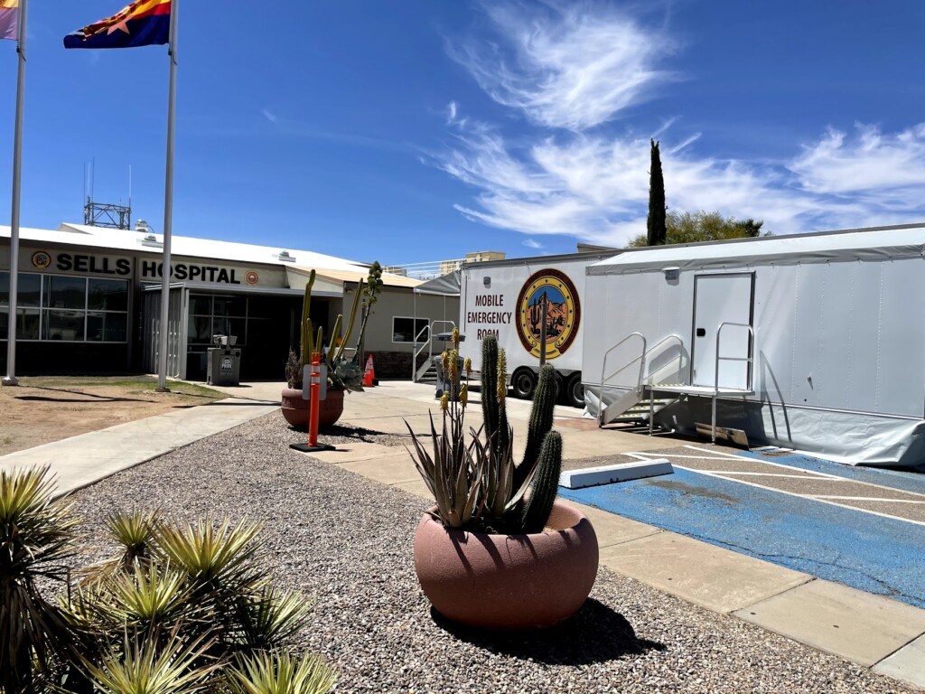
<instances>
[{"instance_id":1,"label":"light-grey side wall of the trailer surrounding the white door","mask_svg":"<svg viewBox=\"0 0 925 694\"><path fill-rule=\"evenodd\" d=\"M668 246L589 266L586 390L597 392L604 353L633 331L649 347L677 334L690 383L697 276L753 272L756 393L746 408L724 403L721 424L845 462L925 465L923 243L920 227L882 229ZM677 279L666 279L671 266ZM624 343L608 373L638 352ZM638 363L609 382L630 388L637 376ZM691 399L692 420L709 421L705 403Z\"/></svg>"}]
</instances>

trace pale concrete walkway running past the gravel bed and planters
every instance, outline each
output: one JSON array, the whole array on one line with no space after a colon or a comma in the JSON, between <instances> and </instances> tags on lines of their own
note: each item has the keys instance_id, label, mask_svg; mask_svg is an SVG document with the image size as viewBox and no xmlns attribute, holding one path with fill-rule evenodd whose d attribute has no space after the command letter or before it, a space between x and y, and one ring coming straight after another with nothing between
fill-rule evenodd
<instances>
[{"instance_id":1,"label":"pale concrete walkway running past the gravel bed and planters","mask_svg":"<svg viewBox=\"0 0 925 694\"><path fill-rule=\"evenodd\" d=\"M148 417L0 457L0 469L49 465L58 490L93 484L192 441L272 412L280 383L219 388L229 398L166 415ZM407 434L429 430L428 412L438 411L432 386L388 381L345 398L341 422ZM510 399L508 416L515 447L525 440L530 403ZM477 405L467 423L480 424ZM572 408L556 408L568 460L605 453L665 448L664 437L598 429ZM515 450L520 454L521 449ZM428 497L408 454L374 443L351 443L314 458L383 484ZM580 505L580 504L576 504ZM685 601L732 614L809 646L841 656L884 675L925 688L925 610L882 596L739 554L648 526L617 514L581 506L598 533L601 564Z\"/></svg>"}]
</instances>

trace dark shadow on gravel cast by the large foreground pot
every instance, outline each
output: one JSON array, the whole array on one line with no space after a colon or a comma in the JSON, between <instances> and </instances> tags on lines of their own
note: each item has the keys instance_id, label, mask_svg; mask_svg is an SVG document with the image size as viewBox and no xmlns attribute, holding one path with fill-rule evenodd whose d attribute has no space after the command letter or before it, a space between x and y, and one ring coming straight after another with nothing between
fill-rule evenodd
<instances>
[{"instance_id":1,"label":"dark shadow on gravel cast by the large foreground pot","mask_svg":"<svg viewBox=\"0 0 925 694\"><path fill-rule=\"evenodd\" d=\"M541 631L487 632L450 622L433 608L430 614L437 626L462 641L538 663L586 665L646 651L665 651L664 644L636 638L623 614L591 598L561 625Z\"/></svg>"}]
</instances>

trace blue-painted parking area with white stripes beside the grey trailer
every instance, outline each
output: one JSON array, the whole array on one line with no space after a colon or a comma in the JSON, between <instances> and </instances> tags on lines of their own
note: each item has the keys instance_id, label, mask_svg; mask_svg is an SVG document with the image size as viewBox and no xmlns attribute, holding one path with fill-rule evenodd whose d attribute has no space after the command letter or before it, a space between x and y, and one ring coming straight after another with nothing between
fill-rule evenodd
<instances>
[{"instance_id":1,"label":"blue-painted parking area with white stripes beside the grey trailer","mask_svg":"<svg viewBox=\"0 0 925 694\"><path fill-rule=\"evenodd\" d=\"M774 460L765 461L755 452L697 446L610 457L612 462L665 458L675 472L586 490L560 489L560 495L925 607L920 567L925 476L842 469L802 454L792 461L789 454L775 452Z\"/></svg>"}]
</instances>

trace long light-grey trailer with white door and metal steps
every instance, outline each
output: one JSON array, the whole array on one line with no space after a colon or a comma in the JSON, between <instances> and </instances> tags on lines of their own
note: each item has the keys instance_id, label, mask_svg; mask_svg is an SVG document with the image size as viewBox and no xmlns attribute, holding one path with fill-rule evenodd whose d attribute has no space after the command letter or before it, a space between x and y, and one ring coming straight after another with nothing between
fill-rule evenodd
<instances>
[{"instance_id":1,"label":"long light-grey trailer with white door and metal steps","mask_svg":"<svg viewBox=\"0 0 925 694\"><path fill-rule=\"evenodd\" d=\"M925 225L629 251L586 296L600 424L925 467Z\"/></svg>"}]
</instances>

